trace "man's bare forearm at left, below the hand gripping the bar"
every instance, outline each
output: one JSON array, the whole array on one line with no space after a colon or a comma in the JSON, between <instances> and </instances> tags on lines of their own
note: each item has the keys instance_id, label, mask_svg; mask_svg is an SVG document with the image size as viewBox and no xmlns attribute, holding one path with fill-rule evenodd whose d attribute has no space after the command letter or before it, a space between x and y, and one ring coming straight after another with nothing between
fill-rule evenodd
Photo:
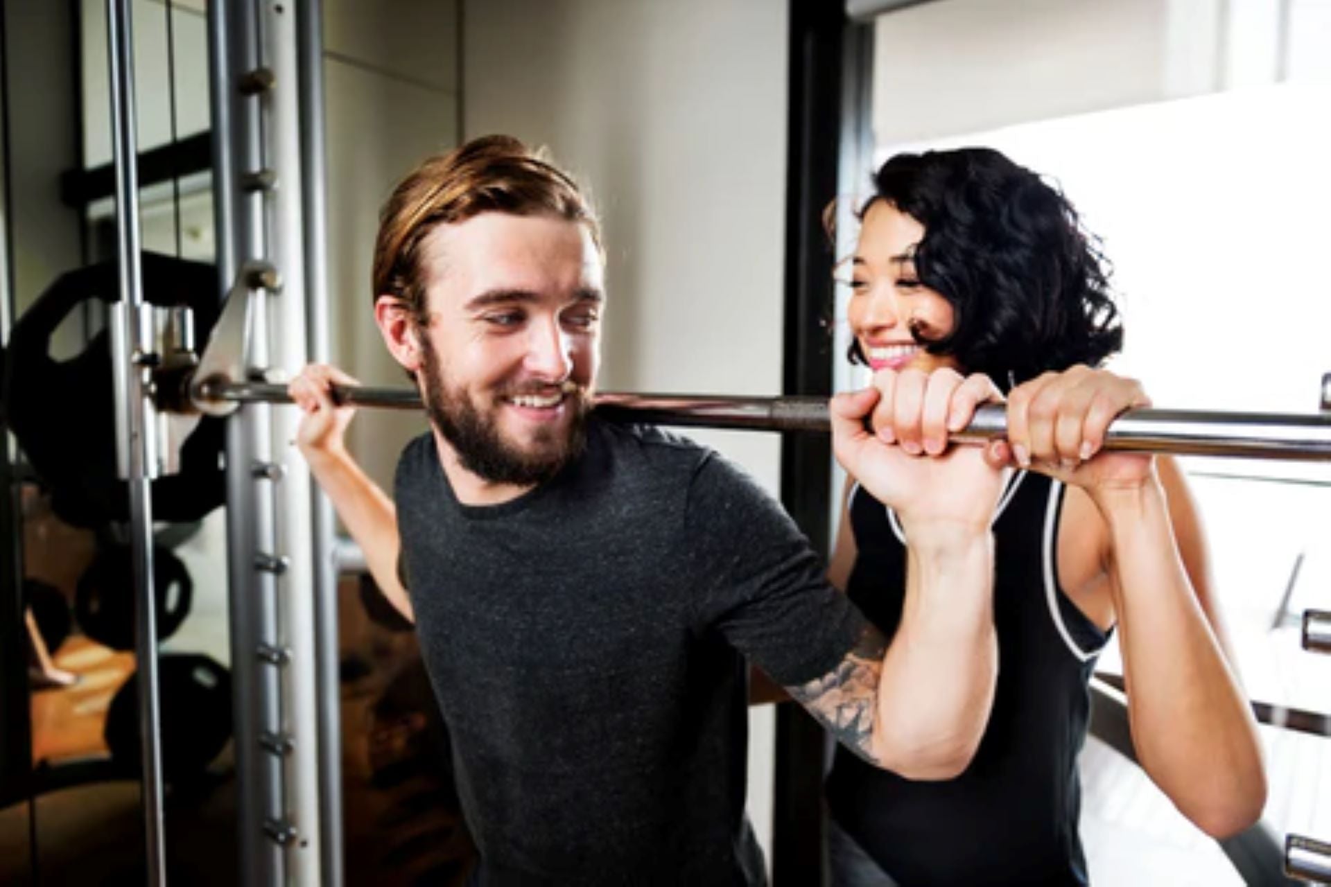
<instances>
[{"instance_id":1,"label":"man's bare forearm at left, below the hand gripping the bar","mask_svg":"<svg viewBox=\"0 0 1331 887\"><path fill-rule=\"evenodd\" d=\"M411 601L398 578L401 540L393 500L345 449L317 449L303 455L338 517L365 553L379 590L405 617L414 620Z\"/></svg>"}]
</instances>

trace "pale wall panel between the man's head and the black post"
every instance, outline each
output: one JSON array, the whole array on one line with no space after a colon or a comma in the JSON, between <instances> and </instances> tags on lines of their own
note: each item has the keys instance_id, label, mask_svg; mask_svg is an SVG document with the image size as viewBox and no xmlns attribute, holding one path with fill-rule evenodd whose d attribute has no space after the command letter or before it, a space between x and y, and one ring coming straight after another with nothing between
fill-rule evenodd
<instances>
[{"instance_id":1,"label":"pale wall panel between the man's head and the black post","mask_svg":"<svg viewBox=\"0 0 1331 887\"><path fill-rule=\"evenodd\" d=\"M602 211L602 388L779 394L787 4L471 0L463 20L466 134L550 146ZM776 438L691 436L776 493ZM772 719L751 722L764 846Z\"/></svg>"}]
</instances>

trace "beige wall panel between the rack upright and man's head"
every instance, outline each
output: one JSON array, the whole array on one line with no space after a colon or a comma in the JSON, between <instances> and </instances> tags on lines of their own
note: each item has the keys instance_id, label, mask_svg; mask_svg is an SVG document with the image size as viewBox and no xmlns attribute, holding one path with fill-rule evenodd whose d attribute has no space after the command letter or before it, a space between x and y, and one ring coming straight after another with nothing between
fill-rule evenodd
<instances>
[{"instance_id":1,"label":"beige wall panel between the rack upright and man's head","mask_svg":"<svg viewBox=\"0 0 1331 887\"><path fill-rule=\"evenodd\" d=\"M331 358L365 383L403 386L374 324L374 235L397 181L457 145L458 9L451 0L327 0L323 9ZM419 416L383 411L353 423L349 445L391 489L398 453L423 430Z\"/></svg>"}]
</instances>

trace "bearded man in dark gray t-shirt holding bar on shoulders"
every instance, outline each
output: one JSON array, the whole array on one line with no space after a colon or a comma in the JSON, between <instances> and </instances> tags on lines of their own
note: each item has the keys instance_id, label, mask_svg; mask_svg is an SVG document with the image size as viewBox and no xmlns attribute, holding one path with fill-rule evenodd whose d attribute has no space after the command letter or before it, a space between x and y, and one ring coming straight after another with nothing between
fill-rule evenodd
<instances>
[{"instance_id":1,"label":"bearded man in dark gray t-shirt holding bar on shoulders","mask_svg":"<svg viewBox=\"0 0 1331 887\"><path fill-rule=\"evenodd\" d=\"M760 884L745 657L866 761L956 775L993 688L992 552L922 544L957 519L924 497L889 649L736 468L588 415L603 270L576 185L520 142L425 161L383 207L374 259L375 319L431 424L402 455L395 508L341 447L350 414L327 384L346 376L293 382L299 444L415 618L479 883ZM966 383L954 402L990 395ZM832 406L839 457L870 489L877 398ZM949 668L957 637L980 645L977 672Z\"/></svg>"}]
</instances>

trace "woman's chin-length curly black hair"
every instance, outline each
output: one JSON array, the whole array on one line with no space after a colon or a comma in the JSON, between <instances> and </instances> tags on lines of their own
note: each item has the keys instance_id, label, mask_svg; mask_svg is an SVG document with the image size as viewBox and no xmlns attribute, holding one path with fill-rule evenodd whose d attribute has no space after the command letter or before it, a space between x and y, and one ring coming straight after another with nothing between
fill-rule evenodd
<instances>
[{"instance_id":1,"label":"woman's chin-length curly black hair","mask_svg":"<svg viewBox=\"0 0 1331 887\"><path fill-rule=\"evenodd\" d=\"M1000 387L1122 347L1109 265L1071 203L1036 173L988 148L897 154L873 177L858 217L886 201L924 226L920 282L942 295L950 334L926 342ZM858 342L851 359L864 362Z\"/></svg>"}]
</instances>

